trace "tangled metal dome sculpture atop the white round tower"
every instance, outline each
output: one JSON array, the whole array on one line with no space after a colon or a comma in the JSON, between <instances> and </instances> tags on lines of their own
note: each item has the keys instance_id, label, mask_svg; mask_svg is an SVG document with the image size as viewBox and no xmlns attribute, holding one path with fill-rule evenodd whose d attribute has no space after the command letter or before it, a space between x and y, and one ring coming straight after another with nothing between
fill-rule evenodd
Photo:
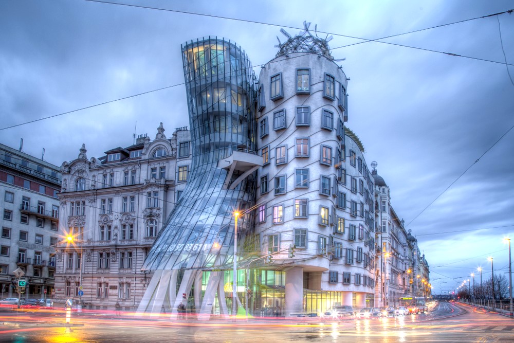
<instances>
[{"instance_id":1,"label":"tangled metal dome sculpture atop the white round tower","mask_svg":"<svg viewBox=\"0 0 514 343\"><path fill-rule=\"evenodd\" d=\"M282 43L277 36L279 44L275 45L275 47L279 48L279 52L277 52L275 57L286 56L288 53L292 52L310 52L337 61L332 57L330 47L328 46L328 42L333 39L332 35L329 36L327 34L324 39L319 38L317 32L318 25L314 26L314 35L309 31L310 23L303 22L303 27L303 31L300 31L300 33L294 37L284 29L280 29L280 32L287 37L287 41Z\"/></svg>"}]
</instances>

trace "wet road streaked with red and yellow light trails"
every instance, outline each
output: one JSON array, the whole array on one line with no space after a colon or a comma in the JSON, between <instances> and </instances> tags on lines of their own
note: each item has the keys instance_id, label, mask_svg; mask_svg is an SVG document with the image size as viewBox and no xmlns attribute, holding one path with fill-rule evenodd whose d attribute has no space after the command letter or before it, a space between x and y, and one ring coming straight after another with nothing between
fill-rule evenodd
<instances>
[{"instance_id":1,"label":"wet road streaked with red and yellow light trails","mask_svg":"<svg viewBox=\"0 0 514 343\"><path fill-rule=\"evenodd\" d=\"M396 318L170 320L124 314L2 312L0 342L513 342L514 319L467 305L439 303Z\"/></svg>"}]
</instances>

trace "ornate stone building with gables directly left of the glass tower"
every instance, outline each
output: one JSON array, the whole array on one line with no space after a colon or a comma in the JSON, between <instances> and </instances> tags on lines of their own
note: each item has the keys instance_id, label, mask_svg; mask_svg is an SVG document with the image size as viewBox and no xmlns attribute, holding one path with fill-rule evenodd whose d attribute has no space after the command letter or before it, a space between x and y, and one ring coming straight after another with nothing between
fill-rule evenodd
<instances>
[{"instance_id":1,"label":"ornate stone building with gables directly left of the glass tower","mask_svg":"<svg viewBox=\"0 0 514 343\"><path fill-rule=\"evenodd\" d=\"M89 309L114 309L116 302L124 310L137 308L151 279L140 272L143 260L190 168L187 127L167 138L162 123L154 140L141 135L132 146L90 159L83 145L78 158L64 162L56 301L71 297Z\"/></svg>"}]
</instances>

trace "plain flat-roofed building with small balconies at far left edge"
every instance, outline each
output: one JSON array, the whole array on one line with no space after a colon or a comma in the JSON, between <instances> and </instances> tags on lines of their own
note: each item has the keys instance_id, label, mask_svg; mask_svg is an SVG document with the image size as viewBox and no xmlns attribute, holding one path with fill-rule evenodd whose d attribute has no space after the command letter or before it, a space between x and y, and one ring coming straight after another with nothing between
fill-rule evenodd
<instances>
[{"instance_id":1,"label":"plain flat-roofed building with small balconies at far left edge","mask_svg":"<svg viewBox=\"0 0 514 343\"><path fill-rule=\"evenodd\" d=\"M21 298L50 297L59 240L59 167L0 144L0 291L17 297L13 271L26 280Z\"/></svg>"}]
</instances>

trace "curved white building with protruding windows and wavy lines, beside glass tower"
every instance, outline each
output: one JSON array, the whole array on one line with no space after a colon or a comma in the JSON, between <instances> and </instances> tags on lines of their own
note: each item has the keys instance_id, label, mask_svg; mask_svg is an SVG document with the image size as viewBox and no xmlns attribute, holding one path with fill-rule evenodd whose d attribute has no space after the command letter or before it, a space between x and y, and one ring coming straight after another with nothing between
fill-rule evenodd
<instances>
[{"instance_id":1,"label":"curved white building with protruding windows and wavy lines, beside glass tower","mask_svg":"<svg viewBox=\"0 0 514 343\"><path fill-rule=\"evenodd\" d=\"M279 252L272 268L292 271L286 313L314 310L302 304L303 288L342 293L318 311L365 306L375 282L374 186L360 141L344 134L346 75L327 57L293 52L268 62L259 80L256 230L263 255Z\"/></svg>"}]
</instances>

